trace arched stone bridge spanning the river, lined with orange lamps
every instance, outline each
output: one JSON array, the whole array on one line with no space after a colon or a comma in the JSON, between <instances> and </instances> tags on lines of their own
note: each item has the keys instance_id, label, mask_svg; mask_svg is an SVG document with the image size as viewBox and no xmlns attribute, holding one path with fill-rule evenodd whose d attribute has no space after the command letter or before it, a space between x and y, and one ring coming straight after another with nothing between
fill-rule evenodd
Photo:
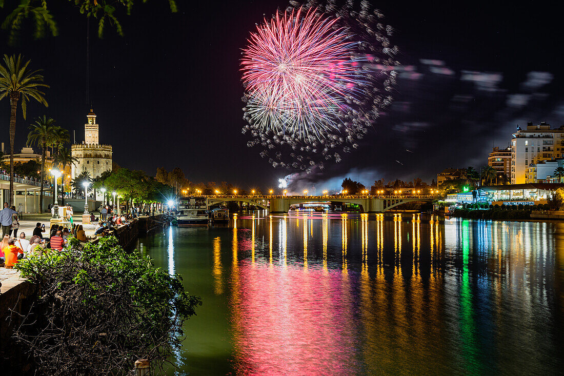
<instances>
[{"instance_id":1,"label":"arched stone bridge spanning the river, lined with orange lamps","mask_svg":"<svg viewBox=\"0 0 564 376\"><path fill-rule=\"evenodd\" d=\"M288 213L290 206L302 203L349 203L357 204L363 213L383 213L394 207L408 202L422 201L431 202L432 196L395 195L395 196L371 196L371 195L334 195L334 196L237 196L237 195L214 195L206 196L209 204L217 204L228 201L246 202L271 213Z\"/></svg>"}]
</instances>

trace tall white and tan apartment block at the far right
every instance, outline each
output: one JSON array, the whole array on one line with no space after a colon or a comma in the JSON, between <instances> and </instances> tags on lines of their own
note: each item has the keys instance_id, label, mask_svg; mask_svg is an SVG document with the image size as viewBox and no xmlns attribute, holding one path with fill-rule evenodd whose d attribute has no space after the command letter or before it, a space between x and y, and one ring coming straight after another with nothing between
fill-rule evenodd
<instances>
[{"instance_id":1,"label":"tall white and tan apartment block at the far right","mask_svg":"<svg viewBox=\"0 0 564 376\"><path fill-rule=\"evenodd\" d=\"M526 183L529 165L561 158L564 154L564 126L550 129L544 121L538 125L527 122L527 128L517 127L511 140L511 183Z\"/></svg>"}]
</instances>

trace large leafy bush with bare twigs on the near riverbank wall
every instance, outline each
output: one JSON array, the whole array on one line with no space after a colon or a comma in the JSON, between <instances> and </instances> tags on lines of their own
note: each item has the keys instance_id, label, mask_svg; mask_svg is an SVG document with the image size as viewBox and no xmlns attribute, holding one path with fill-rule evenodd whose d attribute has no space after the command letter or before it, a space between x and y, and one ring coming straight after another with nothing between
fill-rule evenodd
<instances>
[{"instance_id":1,"label":"large leafy bush with bare twigs on the near riverbank wall","mask_svg":"<svg viewBox=\"0 0 564 376\"><path fill-rule=\"evenodd\" d=\"M125 252L116 238L83 249L74 238L70 244L17 264L39 296L14 339L38 374L121 375L140 358L162 371L201 299L184 291L180 276L138 251Z\"/></svg>"}]
</instances>

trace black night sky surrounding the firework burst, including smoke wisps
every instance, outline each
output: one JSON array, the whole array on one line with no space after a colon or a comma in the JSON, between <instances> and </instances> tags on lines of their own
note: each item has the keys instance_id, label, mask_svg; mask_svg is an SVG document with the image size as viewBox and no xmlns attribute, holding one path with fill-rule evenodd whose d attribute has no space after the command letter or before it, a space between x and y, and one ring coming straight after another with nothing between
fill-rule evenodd
<instances>
[{"instance_id":1,"label":"black night sky surrounding the firework burst, including smoke wisps","mask_svg":"<svg viewBox=\"0 0 564 376\"><path fill-rule=\"evenodd\" d=\"M18 113L17 149L43 113L75 130L78 142L84 137L86 19L61 3L52 8L58 37L33 41L28 28L19 45L8 47L6 31L0 32L2 52L32 59L51 85L49 108L30 104L25 121ZM289 174L272 168L258 148L246 147L239 72L241 48L255 23L287 4L178 1L179 12L171 14L168 2L151 0L139 2L131 16L119 15L125 37L107 28L99 40L91 24L90 101L100 142L113 146L114 161L149 174L178 166L191 181L229 181L241 189L266 189ZM446 167L485 164L492 145L505 146L517 124L564 123L556 8L493 1L374 5L395 28L398 60L412 73L400 76L394 105L357 150L323 173L294 175L298 185L335 185L349 175L367 185L376 178L430 182ZM3 100L0 140L6 147L8 120Z\"/></svg>"}]
</instances>

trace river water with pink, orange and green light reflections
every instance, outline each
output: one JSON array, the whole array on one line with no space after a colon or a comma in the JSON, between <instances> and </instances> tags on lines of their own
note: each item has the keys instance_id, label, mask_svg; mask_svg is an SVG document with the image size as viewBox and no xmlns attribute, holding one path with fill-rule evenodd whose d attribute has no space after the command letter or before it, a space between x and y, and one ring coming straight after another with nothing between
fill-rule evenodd
<instances>
[{"instance_id":1,"label":"river water with pink, orange and green light reflections","mask_svg":"<svg viewBox=\"0 0 564 376\"><path fill-rule=\"evenodd\" d=\"M564 369L564 223L235 218L139 239L204 302L171 375Z\"/></svg>"}]
</instances>

